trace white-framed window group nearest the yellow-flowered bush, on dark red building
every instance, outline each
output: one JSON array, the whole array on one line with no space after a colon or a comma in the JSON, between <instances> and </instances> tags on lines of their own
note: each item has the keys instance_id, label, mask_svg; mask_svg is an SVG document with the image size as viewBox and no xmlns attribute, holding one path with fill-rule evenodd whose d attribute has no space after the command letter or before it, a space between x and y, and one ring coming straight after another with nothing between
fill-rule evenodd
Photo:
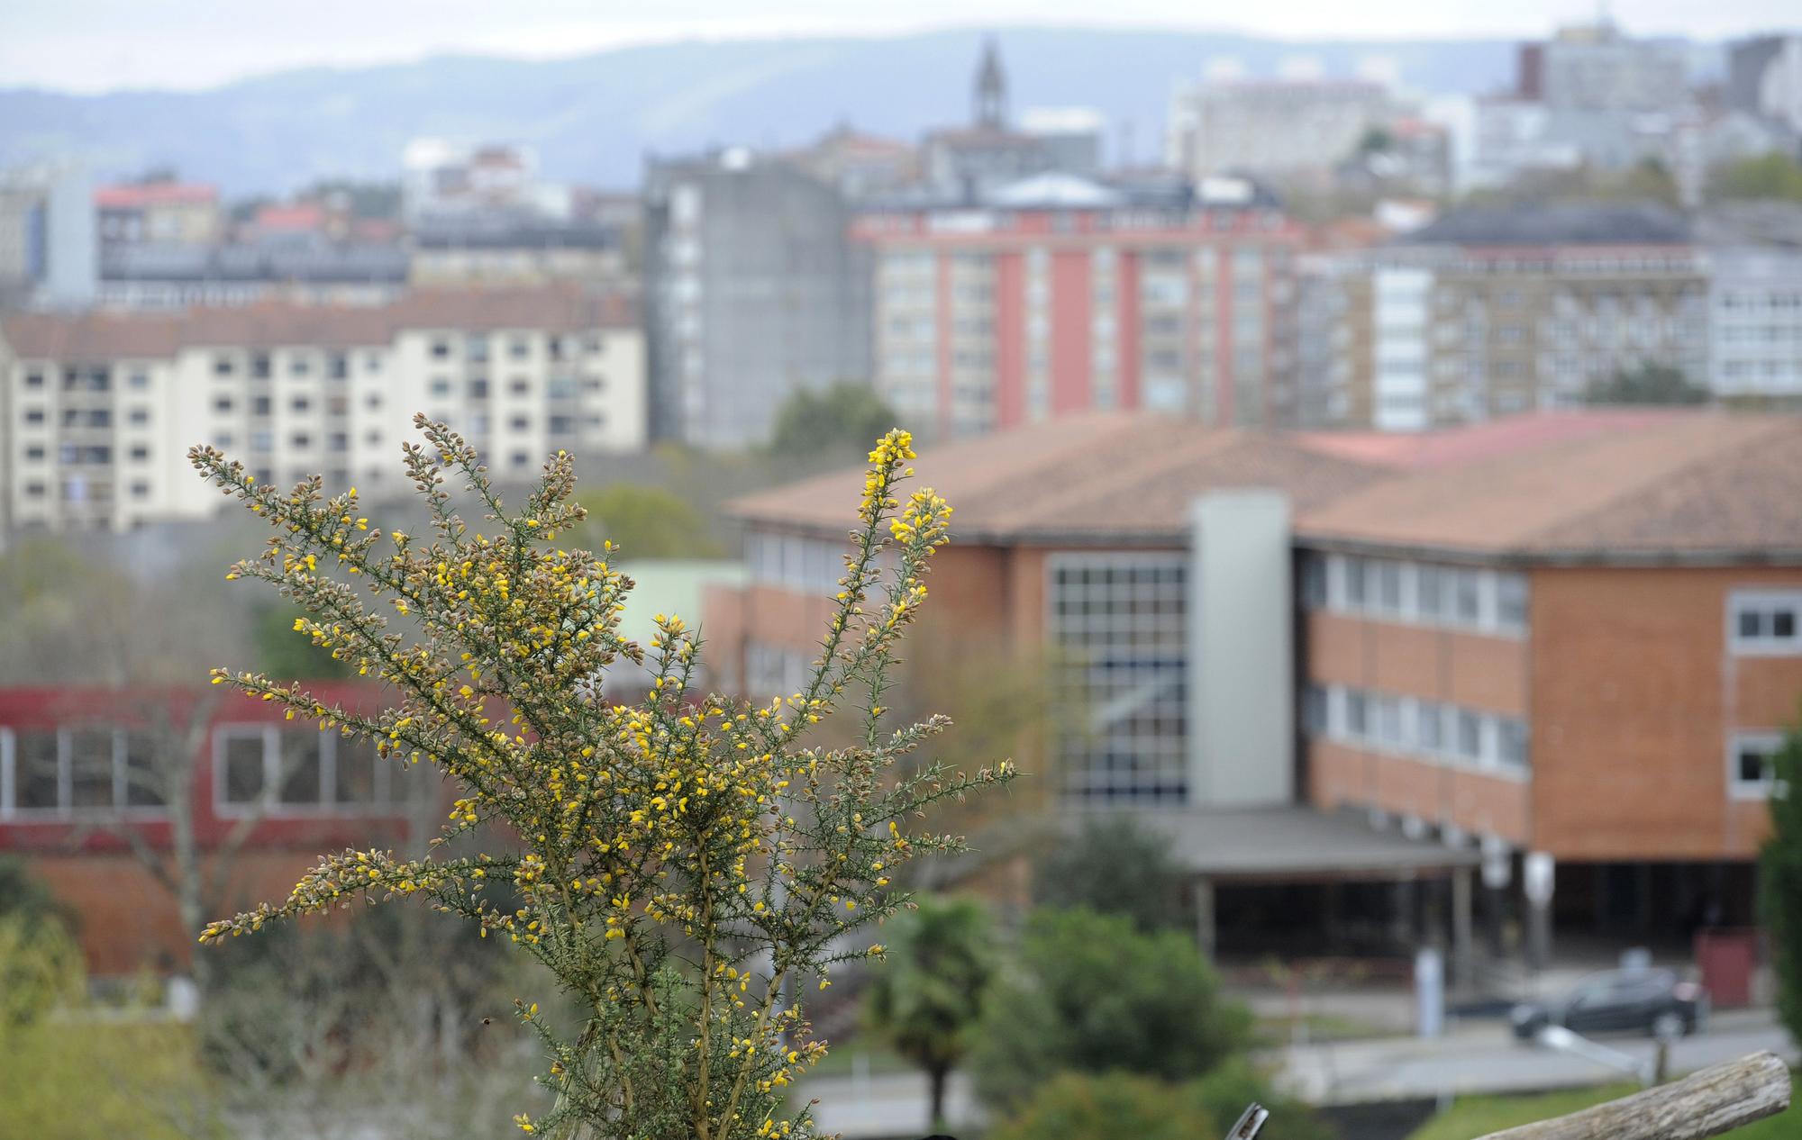
<instances>
[{"instance_id":1,"label":"white-framed window group nearest the yellow-flowered bush, on dark red building","mask_svg":"<svg viewBox=\"0 0 1802 1140\"><path fill-rule=\"evenodd\" d=\"M213 733L213 803L220 814L359 812L398 803L407 791L405 778L368 740L272 724Z\"/></svg>"}]
</instances>

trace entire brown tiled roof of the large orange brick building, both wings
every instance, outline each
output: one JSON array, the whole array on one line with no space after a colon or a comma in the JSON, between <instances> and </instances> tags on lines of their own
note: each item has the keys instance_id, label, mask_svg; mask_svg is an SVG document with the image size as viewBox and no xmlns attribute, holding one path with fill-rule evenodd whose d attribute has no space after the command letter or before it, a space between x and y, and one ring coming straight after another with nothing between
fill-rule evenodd
<instances>
[{"instance_id":1,"label":"entire brown tiled roof of the large orange brick building, both wings","mask_svg":"<svg viewBox=\"0 0 1802 1140\"><path fill-rule=\"evenodd\" d=\"M1097 412L928 448L919 483L966 542L1168 546L1209 490L1288 493L1305 544L1521 558L1802 558L1802 416L1607 409L1420 436L1206 429ZM842 533L836 472L735 499L771 528Z\"/></svg>"}]
</instances>

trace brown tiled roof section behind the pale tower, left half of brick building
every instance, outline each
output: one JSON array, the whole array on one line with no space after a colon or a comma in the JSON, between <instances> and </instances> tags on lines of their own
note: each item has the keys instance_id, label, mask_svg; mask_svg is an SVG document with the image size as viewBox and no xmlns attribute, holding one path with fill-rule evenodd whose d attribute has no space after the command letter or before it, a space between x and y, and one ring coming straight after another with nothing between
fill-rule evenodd
<instances>
[{"instance_id":1,"label":"brown tiled roof section behind the pale tower, left half of brick building","mask_svg":"<svg viewBox=\"0 0 1802 1140\"><path fill-rule=\"evenodd\" d=\"M1297 510L1380 479L1375 465L1317 454L1281 436L1209 430L1159 414L1094 412L935 447L919 483L955 508L966 540L1184 540L1189 502L1209 490L1274 486ZM847 470L728 504L746 520L843 531L863 481Z\"/></svg>"}]
</instances>

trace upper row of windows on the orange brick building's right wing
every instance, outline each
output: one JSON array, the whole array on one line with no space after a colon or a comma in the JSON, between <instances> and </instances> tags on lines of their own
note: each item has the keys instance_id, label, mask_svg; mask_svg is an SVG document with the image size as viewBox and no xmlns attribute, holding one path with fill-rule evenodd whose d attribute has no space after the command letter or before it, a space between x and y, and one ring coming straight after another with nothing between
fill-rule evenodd
<instances>
[{"instance_id":1,"label":"upper row of windows on the orange brick building's right wing","mask_svg":"<svg viewBox=\"0 0 1802 1140\"><path fill-rule=\"evenodd\" d=\"M1526 575L1515 571L1308 555L1301 575L1303 603L1326 612L1485 634L1526 632Z\"/></svg>"}]
</instances>

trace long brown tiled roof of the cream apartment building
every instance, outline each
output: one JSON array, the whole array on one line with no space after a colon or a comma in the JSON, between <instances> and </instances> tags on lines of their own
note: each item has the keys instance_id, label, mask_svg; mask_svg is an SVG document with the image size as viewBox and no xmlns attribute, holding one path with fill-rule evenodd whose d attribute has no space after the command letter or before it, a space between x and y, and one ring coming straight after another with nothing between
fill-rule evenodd
<instances>
[{"instance_id":1,"label":"long brown tiled roof of the cream apartment building","mask_svg":"<svg viewBox=\"0 0 1802 1140\"><path fill-rule=\"evenodd\" d=\"M13 313L0 339L22 358L171 357L180 348L355 348L389 344L400 330L631 328L631 297L573 288L416 290L378 306L265 303L168 313Z\"/></svg>"}]
</instances>

